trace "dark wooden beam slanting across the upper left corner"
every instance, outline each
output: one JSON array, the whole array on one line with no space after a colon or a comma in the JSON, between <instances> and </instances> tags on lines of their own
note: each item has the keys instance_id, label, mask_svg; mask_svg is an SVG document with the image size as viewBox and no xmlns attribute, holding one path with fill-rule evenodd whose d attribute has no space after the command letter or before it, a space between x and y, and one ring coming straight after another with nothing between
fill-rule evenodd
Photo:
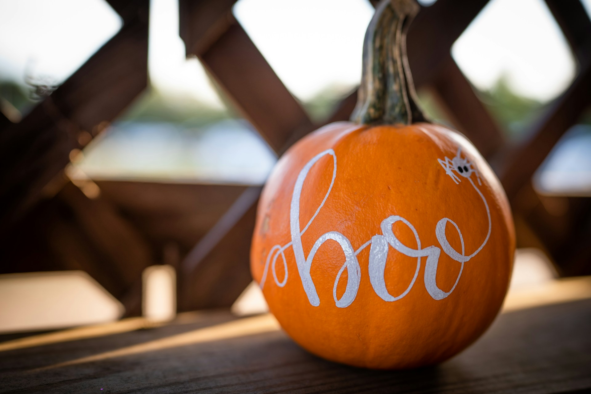
<instances>
[{"instance_id":1,"label":"dark wooden beam slanting across the upper left corner","mask_svg":"<svg viewBox=\"0 0 591 394\"><path fill-rule=\"evenodd\" d=\"M147 8L147 1L144 1ZM0 224L7 228L40 191L147 84L148 24L139 17L20 123L0 135ZM81 138L84 137L84 138Z\"/></svg>"}]
</instances>

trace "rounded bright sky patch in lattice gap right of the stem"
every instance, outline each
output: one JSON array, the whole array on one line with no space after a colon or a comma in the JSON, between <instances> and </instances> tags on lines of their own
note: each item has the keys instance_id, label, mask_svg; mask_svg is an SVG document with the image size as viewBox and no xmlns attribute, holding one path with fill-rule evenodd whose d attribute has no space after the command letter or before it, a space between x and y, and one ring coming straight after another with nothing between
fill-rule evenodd
<instances>
[{"instance_id":1,"label":"rounded bright sky patch in lattice gap right of the stem","mask_svg":"<svg viewBox=\"0 0 591 394\"><path fill-rule=\"evenodd\" d=\"M569 45L542 0L493 0L452 47L460 69L479 89L503 74L517 93L559 95L574 79Z\"/></svg>"}]
</instances>

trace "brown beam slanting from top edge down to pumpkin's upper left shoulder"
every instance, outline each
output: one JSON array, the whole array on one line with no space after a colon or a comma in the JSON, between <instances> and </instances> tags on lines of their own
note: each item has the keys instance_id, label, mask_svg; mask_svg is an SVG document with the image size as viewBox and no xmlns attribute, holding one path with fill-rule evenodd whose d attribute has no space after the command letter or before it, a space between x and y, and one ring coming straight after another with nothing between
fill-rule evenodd
<instances>
[{"instance_id":1,"label":"brown beam slanting from top edge down to pumpkin's upper left shoulder","mask_svg":"<svg viewBox=\"0 0 591 394\"><path fill-rule=\"evenodd\" d=\"M231 12L233 0L181 0L180 36L235 108L282 152L294 132L313 125Z\"/></svg>"}]
</instances>

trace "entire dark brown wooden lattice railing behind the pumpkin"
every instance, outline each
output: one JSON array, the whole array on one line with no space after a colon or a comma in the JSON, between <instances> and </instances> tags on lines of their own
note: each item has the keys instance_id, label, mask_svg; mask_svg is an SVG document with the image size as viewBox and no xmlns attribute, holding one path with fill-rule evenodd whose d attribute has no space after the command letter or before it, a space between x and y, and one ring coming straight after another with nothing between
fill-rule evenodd
<instances>
[{"instance_id":1,"label":"entire dark brown wooden lattice railing behind the pumpkin","mask_svg":"<svg viewBox=\"0 0 591 394\"><path fill-rule=\"evenodd\" d=\"M2 273L83 269L139 313L141 272L171 263L179 308L228 307L250 279L248 249L259 187L98 181L85 196L64 167L147 87L148 0L108 0L124 27L19 123L0 121ZM588 198L543 197L531 177L591 104L591 21L579 1L545 0L579 64L572 86L527 141L509 144L450 48L488 0L439 0L408 34L415 84L430 89L497 171L514 210L518 246L551 256L561 275L591 272ZM348 119L356 93L318 124L294 99L232 15L234 0L180 0L180 36L241 115L277 154L322 123ZM256 83L253 83L256 82ZM548 210L560 204L563 214Z\"/></svg>"}]
</instances>

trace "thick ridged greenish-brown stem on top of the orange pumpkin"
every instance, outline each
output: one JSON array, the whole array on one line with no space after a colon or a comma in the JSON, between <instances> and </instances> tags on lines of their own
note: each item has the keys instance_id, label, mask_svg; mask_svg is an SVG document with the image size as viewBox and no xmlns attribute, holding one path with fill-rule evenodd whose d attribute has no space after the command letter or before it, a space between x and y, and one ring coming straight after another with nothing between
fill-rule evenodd
<instances>
[{"instance_id":1,"label":"thick ridged greenish-brown stem on top of the orange pumpkin","mask_svg":"<svg viewBox=\"0 0 591 394\"><path fill-rule=\"evenodd\" d=\"M420 6L382 0L363 43L363 72L351 121L366 125L426 122L416 103L406 54L406 31Z\"/></svg>"}]
</instances>

